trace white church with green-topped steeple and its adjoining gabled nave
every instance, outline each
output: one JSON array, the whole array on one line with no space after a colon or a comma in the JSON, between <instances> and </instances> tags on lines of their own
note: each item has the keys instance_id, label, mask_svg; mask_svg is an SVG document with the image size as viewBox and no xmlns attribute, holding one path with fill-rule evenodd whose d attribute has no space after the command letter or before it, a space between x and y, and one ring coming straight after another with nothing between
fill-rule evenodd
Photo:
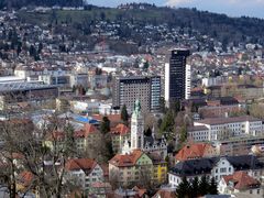
<instances>
[{"instance_id":1,"label":"white church with green-topped steeple and its adjoining gabled nave","mask_svg":"<svg viewBox=\"0 0 264 198\"><path fill-rule=\"evenodd\" d=\"M144 118L139 100L134 103L131 117L131 135L130 140L127 140L122 147L122 154L131 153L134 150L157 154L163 158L167 156L167 142L164 138L156 139L154 129L152 130L151 136L144 135Z\"/></svg>"}]
</instances>

